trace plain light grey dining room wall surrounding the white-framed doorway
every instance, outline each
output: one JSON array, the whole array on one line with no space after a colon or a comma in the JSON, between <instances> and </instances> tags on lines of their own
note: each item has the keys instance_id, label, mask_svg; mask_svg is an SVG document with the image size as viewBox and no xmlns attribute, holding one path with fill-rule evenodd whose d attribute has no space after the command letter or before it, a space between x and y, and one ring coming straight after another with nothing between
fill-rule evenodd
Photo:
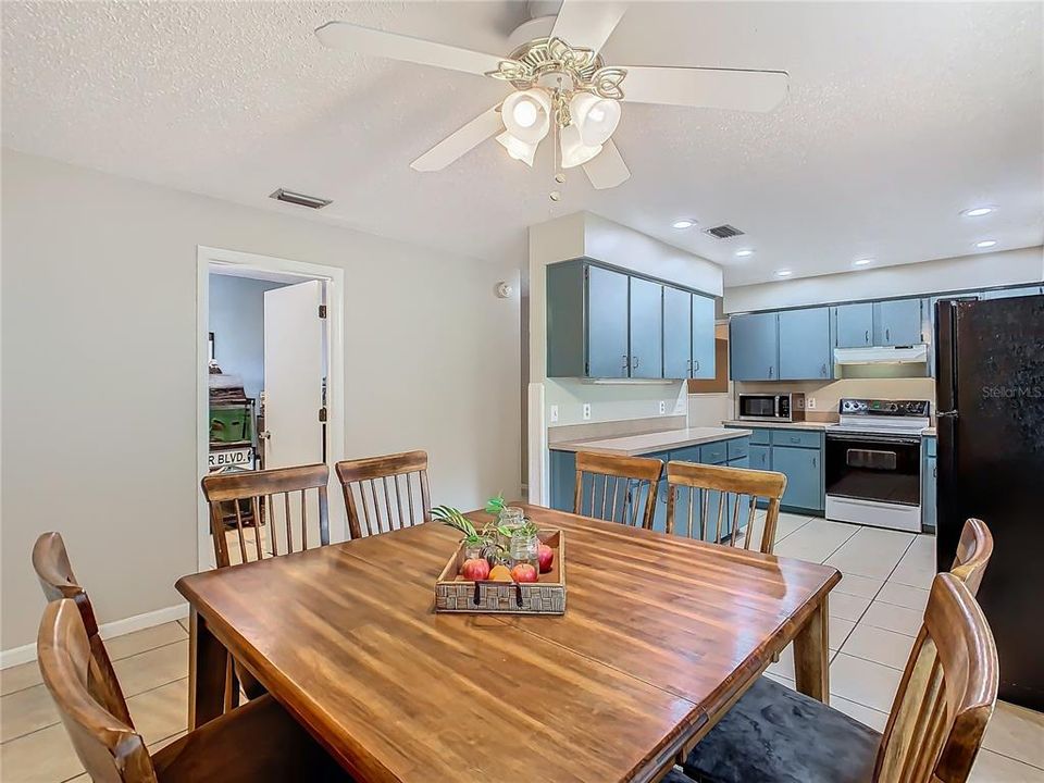
<instances>
[{"instance_id":1,"label":"plain light grey dining room wall surrounding the white-framed doorway","mask_svg":"<svg viewBox=\"0 0 1044 783\"><path fill-rule=\"evenodd\" d=\"M3 150L2 625L36 637L36 536L101 622L196 570L196 249L343 266L349 457L425 448L433 500L519 490L519 298L478 261ZM339 502L339 498L332 498Z\"/></svg>"}]
</instances>

